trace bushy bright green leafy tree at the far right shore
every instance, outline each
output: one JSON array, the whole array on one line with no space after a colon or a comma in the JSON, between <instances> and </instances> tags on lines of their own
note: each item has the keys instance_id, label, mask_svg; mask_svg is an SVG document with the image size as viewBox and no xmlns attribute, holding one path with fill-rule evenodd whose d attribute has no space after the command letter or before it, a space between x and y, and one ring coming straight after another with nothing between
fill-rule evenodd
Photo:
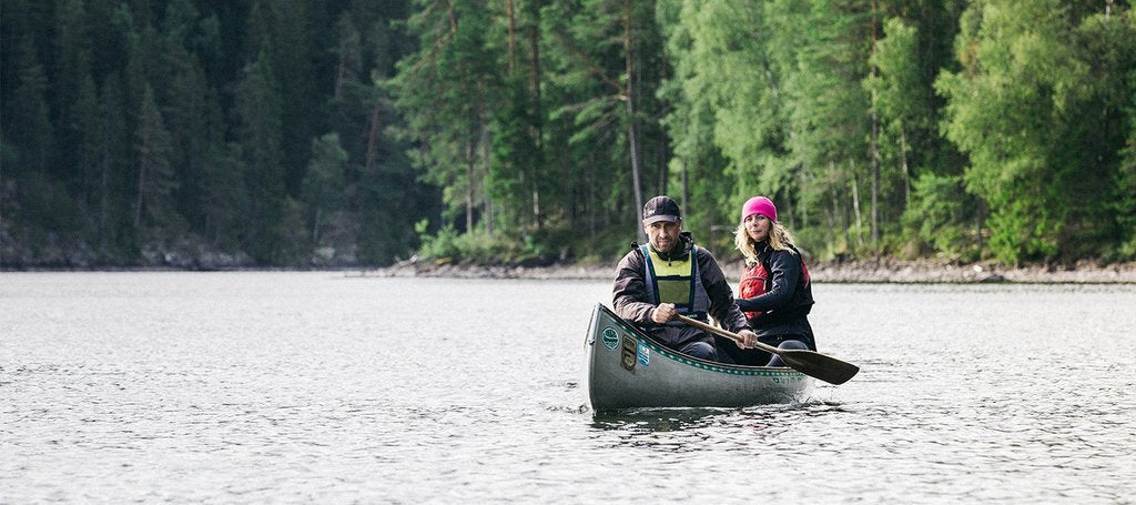
<instances>
[{"instance_id":1,"label":"bushy bright green leafy tree at the far right shore","mask_svg":"<svg viewBox=\"0 0 1136 505\"><path fill-rule=\"evenodd\" d=\"M950 100L946 136L970 157L967 188L989 205L994 255L1093 255L1085 246L1116 237L1101 196L1118 169L1121 102L1111 97L1131 85L1119 77L1134 66L1121 49L1131 47L1130 22L1078 19L1055 0L985 1L967 19L966 66L938 89Z\"/></svg>"}]
</instances>

